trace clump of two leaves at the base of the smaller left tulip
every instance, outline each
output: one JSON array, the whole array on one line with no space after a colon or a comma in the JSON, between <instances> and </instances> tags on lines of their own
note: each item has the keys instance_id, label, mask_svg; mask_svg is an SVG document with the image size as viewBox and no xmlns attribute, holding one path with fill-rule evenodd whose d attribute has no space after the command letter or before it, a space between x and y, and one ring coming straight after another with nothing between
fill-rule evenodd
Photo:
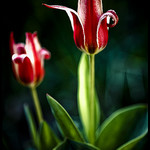
<instances>
[{"instance_id":1,"label":"clump of two leaves at the base of the smaller left tulip","mask_svg":"<svg viewBox=\"0 0 150 150\"><path fill-rule=\"evenodd\" d=\"M30 133L34 147L38 150L49 150L54 148L60 140L46 121L41 122L39 130L36 129L35 121L27 105L24 105L26 118L28 121Z\"/></svg>"}]
</instances>

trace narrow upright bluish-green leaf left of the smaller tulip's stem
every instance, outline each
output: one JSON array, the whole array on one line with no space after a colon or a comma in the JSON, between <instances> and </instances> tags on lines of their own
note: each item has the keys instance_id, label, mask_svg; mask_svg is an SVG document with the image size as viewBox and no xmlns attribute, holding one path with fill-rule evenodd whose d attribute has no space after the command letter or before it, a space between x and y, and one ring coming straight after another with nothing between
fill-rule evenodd
<instances>
[{"instance_id":1,"label":"narrow upright bluish-green leaf left of the smaller tulip's stem","mask_svg":"<svg viewBox=\"0 0 150 150\"><path fill-rule=\"evenodd\" d=\"M28 126L29 126L29 130L30 130L33 143L35 146L37 146L37 131L36 131L36 126L35 126L35 121L29 110L29 106L26 104L24 105L24 111L25 111L26 119L28 121Z\"/></svg>"}]
</instances>

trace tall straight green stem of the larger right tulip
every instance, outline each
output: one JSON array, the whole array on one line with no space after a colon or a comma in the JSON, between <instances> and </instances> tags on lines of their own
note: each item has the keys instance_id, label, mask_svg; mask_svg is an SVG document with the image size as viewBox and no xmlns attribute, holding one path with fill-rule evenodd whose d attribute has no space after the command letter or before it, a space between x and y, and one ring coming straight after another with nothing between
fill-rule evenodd
<instances>
[{"instance_id":1,"label":"tall straight green stem of the larger right tulip","mask_svg":"<svg viewBox=\"0 0 150 150\"><path fill-rule=\"evenodd\" d=\"M89 55L89 96L90 96L90 131L89 140L91 144L95 142L95 55Z\"/></svg>"}]
</instances>

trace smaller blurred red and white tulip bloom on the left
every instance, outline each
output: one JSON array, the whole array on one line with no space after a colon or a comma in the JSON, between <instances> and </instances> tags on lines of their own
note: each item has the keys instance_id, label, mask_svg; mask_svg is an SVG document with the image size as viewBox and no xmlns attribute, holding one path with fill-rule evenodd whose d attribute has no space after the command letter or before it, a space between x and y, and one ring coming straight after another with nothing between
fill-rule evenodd
<instances>
[{"instance_id":1,"label":"smaller blurred red and white tulip bloom on the left","mask_svg":"<svg viewBox=\"0 0 150 150\"><path fill-rule=\"evenodd\" d=\"M37 33L26 33L26 43L15 43L13 32L10 34L12 67L16 79L29 87L38 86L44 77L44 59L50 52L42 48Z\"/></svg>"}]
</instances>

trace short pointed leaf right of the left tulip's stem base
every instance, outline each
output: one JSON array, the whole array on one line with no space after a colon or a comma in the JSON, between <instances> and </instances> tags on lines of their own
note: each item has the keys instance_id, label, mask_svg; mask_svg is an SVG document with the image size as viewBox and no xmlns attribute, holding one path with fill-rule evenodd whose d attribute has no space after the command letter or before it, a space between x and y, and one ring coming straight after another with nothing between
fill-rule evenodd
<instances>
[{"instance_id":1,"label":"short pointed leaf right of the left tulip's stem base","mask_svg":"<svg viewBox=\"0 0 150 150\"><path fill-rule=\"evenodd\" d=\"M60 142L46 121L40 124L39 142L41 150L50 150Z\"/></svg>"}]
</instances>

